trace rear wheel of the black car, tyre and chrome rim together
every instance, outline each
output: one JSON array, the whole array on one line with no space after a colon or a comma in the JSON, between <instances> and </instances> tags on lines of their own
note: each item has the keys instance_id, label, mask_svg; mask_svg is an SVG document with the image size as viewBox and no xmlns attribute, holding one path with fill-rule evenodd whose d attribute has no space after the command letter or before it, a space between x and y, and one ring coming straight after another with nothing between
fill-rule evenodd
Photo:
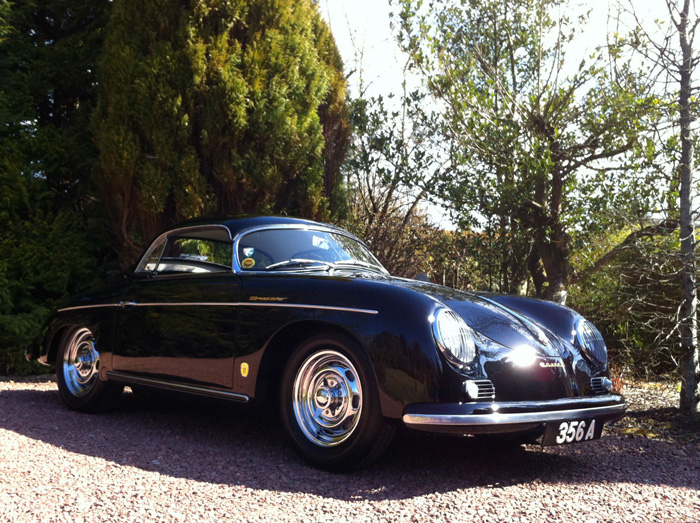
<instances>
[{"instance_id":1,"label":"rear wheel of the black car, tyre and chrome rim together","mask_svg":"<svg viewBox=\"0 0 700 523\"><path fill-rule=\"evenodd\" d=\"M56 381L63 404L80 412L104 412L116 404L124 389L99 377L100 353L90 329L66 332L56 358Z\"/></svg>"}]
</instances>

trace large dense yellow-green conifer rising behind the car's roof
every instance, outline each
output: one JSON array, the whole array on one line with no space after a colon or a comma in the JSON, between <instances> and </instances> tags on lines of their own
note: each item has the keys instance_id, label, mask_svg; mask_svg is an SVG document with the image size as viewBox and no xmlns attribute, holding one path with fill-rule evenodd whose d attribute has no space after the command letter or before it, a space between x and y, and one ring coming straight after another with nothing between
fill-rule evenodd
<instances>
[{"instance_id":1,"label":"large dense yellow-green conifer rising behind the car's roof","mask_svg":"<svg viewBox=\"0 0 700 523\"><path fill-rule=\"evenodd\" d=\"M347 134L339 68L308 0L115 3L94 121L122 263L196 215L328 217Z\"/></svg>"}]
</instances>

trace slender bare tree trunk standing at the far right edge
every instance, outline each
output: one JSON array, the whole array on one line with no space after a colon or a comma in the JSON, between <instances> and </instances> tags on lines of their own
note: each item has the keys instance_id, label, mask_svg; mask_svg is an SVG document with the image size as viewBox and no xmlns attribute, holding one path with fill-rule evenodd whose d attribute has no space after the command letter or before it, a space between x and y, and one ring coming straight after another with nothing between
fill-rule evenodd
<instances>
[{"instance_id":1,"label":"slender bare tree trunk standing at the far right edge","mask_svg":"<svg viewBox=\"0 0 700 523\"><path fill-rule=\"evenodd\" d=\"M684 0L683 11L677 23L683 64L680 69L680 127L681 161L680 175L680 228L681 258L681 350L682 384L680 408L686 414L700 417L700 362L697 343L697 291L695 288L695 225L693 223L693 137L691 114L692 48L688 39L688 13L690 0Z\"/></svg>"}]
</instances>

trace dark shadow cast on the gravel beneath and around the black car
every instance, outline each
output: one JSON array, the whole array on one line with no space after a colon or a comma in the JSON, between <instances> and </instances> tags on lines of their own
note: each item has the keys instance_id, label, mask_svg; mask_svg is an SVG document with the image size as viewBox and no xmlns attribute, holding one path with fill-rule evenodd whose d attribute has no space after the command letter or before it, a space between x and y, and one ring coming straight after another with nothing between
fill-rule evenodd
<instances>
[{"instance_id":1,"label":"dark shadow cast on the gravel beneath and around the black car","mask_svg":"<svg viewBox=\"0 0 700 523\"><path fill-rule=\"evenodd\" d=\"M619 482L700 490L700 445L610 435L543 449L401 430L370 469L333 474L308 466L293 452L274 413L132 393L114 412L88 415L66 410L55 389L2 390L0 429L119 466L349 501L537 483ZM685 472L678 474L681 470Z\"/></svg>"}]
</instances>

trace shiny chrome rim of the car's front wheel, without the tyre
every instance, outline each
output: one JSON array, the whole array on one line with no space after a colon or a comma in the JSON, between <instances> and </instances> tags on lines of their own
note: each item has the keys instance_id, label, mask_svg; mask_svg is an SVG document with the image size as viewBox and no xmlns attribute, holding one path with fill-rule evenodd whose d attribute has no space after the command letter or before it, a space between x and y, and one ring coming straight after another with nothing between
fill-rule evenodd
<instances>
[{"instance_id":1,"label":"shiny chrome rim of the car's front wheel, without the tyre","mask_svg":"<svg viewBox=\"0 0 700 523\"><path fill-rule=\"evenodd\" d=\"M321 447L345 441L362 412L362 385L355 367L339 352L309 356L294 380L294 415L306 437Z\"/></svg>"}]
</instances>

